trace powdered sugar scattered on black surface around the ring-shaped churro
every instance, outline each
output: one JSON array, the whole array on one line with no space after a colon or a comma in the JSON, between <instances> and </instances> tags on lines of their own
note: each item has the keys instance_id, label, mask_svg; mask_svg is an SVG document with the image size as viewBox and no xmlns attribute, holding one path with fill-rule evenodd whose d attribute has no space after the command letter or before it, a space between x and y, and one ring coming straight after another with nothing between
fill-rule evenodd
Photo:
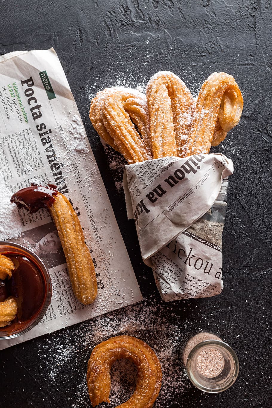
<instances>
[{"instance_id":1,"label":"powdered sugar scattered on black surface around the ring-shaped churro","mask_svg":"<svg viewBox=\"0 0 272 408\"><path fill-rule=\"evenodd\" d=\"M152 295L138 304L127 306L124 310L95 317L73 329L67 328L65 335L60 332L51 334L41 341L41 368L44 364L50 367L50 375L46 379L49 382L60 381L60 377L63 381L66 372L69 372L71 377L77 377L78 385L74 389L69 406L90 407L86 367L91 351L109 337L132 335L146 341L161 363L162 386L154 408L170 408L173 403L177 404L181 400L180 406L185 407L184 391L192 388L192 384L179 361L179 350L186 333L188 334L188 326L187 321L181 322L181 317L175 315L171 304L165 304L157 296ZM84 362L78 363L79 359L83 359ZM130 397L135 389L136 377L134 364L122 359L113 365L110 406L122 404ZM193 390L192 388L192 392ZM67 378L67 392L69 392L69 378ZM101 404L101 406L108 405Z\"/></svg>"}]
</instances>

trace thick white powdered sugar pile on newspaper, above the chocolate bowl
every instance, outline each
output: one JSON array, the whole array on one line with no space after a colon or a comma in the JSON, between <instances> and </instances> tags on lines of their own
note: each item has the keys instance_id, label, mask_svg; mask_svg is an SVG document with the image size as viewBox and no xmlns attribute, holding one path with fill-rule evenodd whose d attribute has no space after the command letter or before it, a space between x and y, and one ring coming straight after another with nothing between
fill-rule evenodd
<instances>
[{"instance_id":1,"label":"thick white powdered sugar pile on newspaper, above the chocolate bowl","mask_svg":"<svg viewBox=\"0 0 272 408\"><path fill-rule=\"evenodd\" d=\"M22 233L18 209L11 204L11 191L0 177L0 240L17 238Z\"/></svg>"}]
</instances>

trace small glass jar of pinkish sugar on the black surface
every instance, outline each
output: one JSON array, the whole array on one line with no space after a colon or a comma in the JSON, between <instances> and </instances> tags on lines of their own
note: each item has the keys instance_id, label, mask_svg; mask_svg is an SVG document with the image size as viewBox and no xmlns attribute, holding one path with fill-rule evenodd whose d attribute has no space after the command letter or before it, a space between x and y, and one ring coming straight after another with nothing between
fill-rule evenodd
<instances>
[{"instance_id":1,"label":"small glass jar of pinkish sugar on the black surface","mask_svg":"<svg viewBox=\"0 0 272 408\"><path fill-rule=\"evenodd\" d=\"M239 373L234 350L212 333L201 332L190 337L180 357L192 384L204 392L225 391Z\"/></svg>"}]
</instances>

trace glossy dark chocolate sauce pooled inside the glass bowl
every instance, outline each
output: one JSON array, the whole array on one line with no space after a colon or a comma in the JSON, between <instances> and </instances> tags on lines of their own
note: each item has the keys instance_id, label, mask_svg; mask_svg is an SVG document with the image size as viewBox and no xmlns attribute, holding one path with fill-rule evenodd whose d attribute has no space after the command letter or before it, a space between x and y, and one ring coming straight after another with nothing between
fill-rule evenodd
<instances>
[{"instance_id":1,"label":"glossy dark chocolate sauce pooled inside the glass bowl","mask_svg":"<svg viewBox=\"0 0 272 408\"><path fill-rule=\"evenodd\" d=\"M39 310L44 298L42 277L36 266L27 257L12 255L15 270L8 279L9 295L18 305L18 322L26 322Z\"/></svg>"}]
</instances>

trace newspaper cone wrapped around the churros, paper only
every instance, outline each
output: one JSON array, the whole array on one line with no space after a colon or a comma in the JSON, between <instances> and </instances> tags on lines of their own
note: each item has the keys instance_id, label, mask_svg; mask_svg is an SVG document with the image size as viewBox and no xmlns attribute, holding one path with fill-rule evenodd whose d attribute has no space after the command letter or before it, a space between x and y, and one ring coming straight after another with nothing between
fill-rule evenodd
<instances>
[{"instance_id":1,"label":"newspaper cone wrapped around the churros, paper only","mask_svg":"<svg viewBox=\"0 0 272 408\"><path fill-rule=\"evenodd\" d=\"M221 235L232 173L232 161L222 154L126 166L128 218L135 219L142 258L166 302L221 293Z\"/></svg>"}]
</instances>

